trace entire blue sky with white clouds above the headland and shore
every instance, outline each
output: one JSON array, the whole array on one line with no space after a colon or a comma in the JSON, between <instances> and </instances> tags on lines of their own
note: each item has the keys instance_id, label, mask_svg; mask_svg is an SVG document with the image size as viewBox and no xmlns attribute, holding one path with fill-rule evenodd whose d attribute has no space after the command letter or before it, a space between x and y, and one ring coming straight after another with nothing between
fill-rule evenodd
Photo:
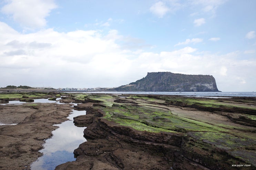
<instances>
[{"instance_id":1,"label":"entire blue sky with white clouds above the headland and shore","mask_svg":"<svg viewBox=\"0 0 256 170\"><path fill-rule=\"evenodd\" d=\"M168 71L256 91L255 0L1 0L0 86L117 87Z\"/></svg>"}]
</instances>

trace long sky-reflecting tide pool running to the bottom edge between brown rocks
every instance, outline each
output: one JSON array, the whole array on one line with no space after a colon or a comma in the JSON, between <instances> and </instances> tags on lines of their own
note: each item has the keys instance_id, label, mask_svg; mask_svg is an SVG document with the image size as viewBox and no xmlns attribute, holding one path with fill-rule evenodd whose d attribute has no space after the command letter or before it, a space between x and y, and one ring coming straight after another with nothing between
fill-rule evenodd
<instances>
[{"instance_id":1,"label":"long sky-reflecting tide pool running to the bottom edge between brown rocks","mask_svg":"<svg viewBox=\"0 0 256 170\"><path fill-rule=\"evenodd\" d=\"M76 127L73 118L86 114L86 111L73 110L58 129L52 132L53 136L45 141L44 149L40 150L43 156L31 164L31 170L54 170L56 166L74 161L73 151L85 142L83 131L86 127Z\"/></svg>"}]
</instances>

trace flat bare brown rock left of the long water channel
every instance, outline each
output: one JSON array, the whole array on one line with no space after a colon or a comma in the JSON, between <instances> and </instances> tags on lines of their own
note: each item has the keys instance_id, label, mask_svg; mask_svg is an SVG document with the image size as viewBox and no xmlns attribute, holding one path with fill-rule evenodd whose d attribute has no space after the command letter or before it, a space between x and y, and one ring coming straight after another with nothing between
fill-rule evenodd
<instances>
[{"instance_id":1,"label":"flat bare brown rock left of the long water channel","mask_svg":"<svg viewBox=\"0 0 256 170\"><path fill-rule=\"evenodd\" d=\"M1 105L0 169L29 170L32 162L42 155L44 140L57 129L54 124L66 121L70 105L23 104Z\"/></svg>"}]
</instances>

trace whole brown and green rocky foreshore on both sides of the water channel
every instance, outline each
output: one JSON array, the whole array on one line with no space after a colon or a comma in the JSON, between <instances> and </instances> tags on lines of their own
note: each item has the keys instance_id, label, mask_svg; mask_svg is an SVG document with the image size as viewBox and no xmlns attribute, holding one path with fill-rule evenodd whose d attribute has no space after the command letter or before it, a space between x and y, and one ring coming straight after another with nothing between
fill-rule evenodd
<instances>
[{"instance_id":1,"label":"whole brown and green rocky foreshore on both sides of the water channel","mask_svg":"<svg viewBox=\"0 0 256 170\"><path fill-rule=\"evenodd\" d=\"M74 150L76 161L56 170L233 169L232 163L250 164L250 170L256 166L254 97L84 93L62 97L64 103L71 101L82 102L75 108L86 110L74 123L87 127L88 142ZM1 105L1 123L18 124L0 126L0 169L30 169L41 155L44 139L57 128L52 125L65 121L71 109L40 103Z\"/></svg>"}]
</instances>

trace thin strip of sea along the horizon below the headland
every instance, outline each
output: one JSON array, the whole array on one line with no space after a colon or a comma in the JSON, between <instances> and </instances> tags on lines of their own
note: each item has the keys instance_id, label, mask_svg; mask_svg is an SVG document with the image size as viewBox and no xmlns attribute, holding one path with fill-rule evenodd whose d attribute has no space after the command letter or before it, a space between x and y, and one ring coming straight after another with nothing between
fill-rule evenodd
<instances>
[{"instance_id":1,"label":"thin strip of sea along the horizon below the headland","mask_svg":"<svg viewBox=\"0 0 256 170\"><path fill-rule=\"evenodd\" d=\"M81 93L81 92L73 92ZM104 93L104 94L151 94L151 95L181 95L191 97L256 97L256 92L82 92L82 93Z\"/></svg>"}]
</instances>

